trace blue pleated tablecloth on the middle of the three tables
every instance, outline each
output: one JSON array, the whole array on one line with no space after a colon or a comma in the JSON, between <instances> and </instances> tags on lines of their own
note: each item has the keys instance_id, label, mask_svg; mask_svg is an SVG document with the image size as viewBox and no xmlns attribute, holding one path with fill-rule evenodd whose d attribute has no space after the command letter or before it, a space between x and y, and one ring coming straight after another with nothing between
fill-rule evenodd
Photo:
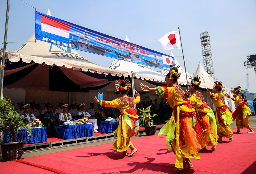
<instances>
[{"instance_id":1,"label":"blue pleated tablecloth on the middle of the three tables","mask_svg":"<svg viewBox=\"0 0 256 174\"><path fill-rule=\"evenodd\" d=\"M93 124L60 125L58 137L62 139L73 139L93 136Z\"/></svg>"}]
</instances>

